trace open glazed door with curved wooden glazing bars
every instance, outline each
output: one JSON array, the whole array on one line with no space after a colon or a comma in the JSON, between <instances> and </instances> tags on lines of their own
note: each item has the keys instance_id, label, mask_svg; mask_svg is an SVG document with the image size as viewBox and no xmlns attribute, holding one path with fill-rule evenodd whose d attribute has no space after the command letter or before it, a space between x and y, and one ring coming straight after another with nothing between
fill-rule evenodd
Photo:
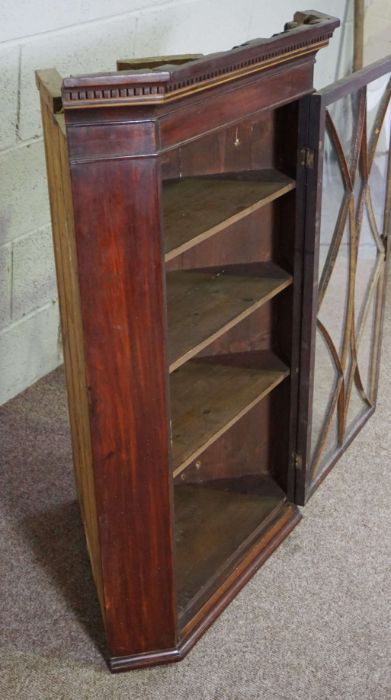
<instances>
[{"instance_id":1,"label":"open glazed door with curved wooden glazing bars","mask_svg":"<svg viewBox=\"0 0 391 700\"><path fill-rule=\"evenodd\" d=\"M296 501L375 410L390 232L391 57L306 98Z\"/></svg>"}]
</instances>

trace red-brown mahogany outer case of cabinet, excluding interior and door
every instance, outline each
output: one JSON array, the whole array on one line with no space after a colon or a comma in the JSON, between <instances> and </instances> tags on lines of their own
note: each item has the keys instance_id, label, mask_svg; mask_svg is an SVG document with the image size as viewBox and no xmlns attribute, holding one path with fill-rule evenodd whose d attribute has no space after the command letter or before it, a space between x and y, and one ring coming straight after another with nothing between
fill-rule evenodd
<instances>
[{"instance_id":1,"label":"red-brown mahogany outer case of cabinet, excluding interior and door","mask_svg":"<svg viewBox=\"0 0 391 700\"><path fill-rule=\"evenodd\" d=\"M88 498L80 479L78 485L85 524L91 504L96 513L86 532L113 671L181 659L300 518L295 506L281 505L197 613L178 621L161 161L181 144L308 95L315 54L327 45L338 24L320 13L297 13L285 32L225 53L152 70L63 81L72 202L66 205L65 190L63 201L58 194L59 188L64 189L61 182L69 177L64 171L62 181L57 177L57 190L51 189L51 206L55 227L56 217L58 222L64 216L62 208L72 212L73 205L76 250L69 253L73 263L68 261L68 272L72 284L75 280L77 284L70 301L66 281L62 287L60 279L59 291L64 344L72 343L72 338L80 341L78 386L87 397L84 420L91 442L89 462L86 458L91 477ZM38 84L45 103L45 90L50 89L43 73ZM51 106L57 111L54 100ZM294 113L293 121L279 128L294 144L290 148L289 138L285 139L283 155L296 177L296 191L284 206L287 216L296 211L300 241L305 165L301 160L296 172L298 110ZM53 183L56 169L49 141L56 137L49 139L50 128L48 123L47 161ZM61 163L66 170L64 155ZM60 230L61 224L57 225ZM293 230L295 224L290 221L290 226ZM69 231L73 250L72 221ZM58 275L65 278L61 255L64 252L57 255ZM299 261L293 298L297 318L302 303ZM68 326L65 317L78 303L81 322ZM282 313L292 317L288 303ZM297 394L299 337L293 335L280 343L282 354L293 362L291 388L282 390L280 399L288 406ZM65 352L68 384L75 374L72 352L72 348ZM77 410L70 410L76 415L76 444L81 439ZM290 435L283 438L290 440L291 459L276 473L291 498L294 438L293 421ZM76 448L75 455L78 473Z\"/></svg>"}]
</instances>

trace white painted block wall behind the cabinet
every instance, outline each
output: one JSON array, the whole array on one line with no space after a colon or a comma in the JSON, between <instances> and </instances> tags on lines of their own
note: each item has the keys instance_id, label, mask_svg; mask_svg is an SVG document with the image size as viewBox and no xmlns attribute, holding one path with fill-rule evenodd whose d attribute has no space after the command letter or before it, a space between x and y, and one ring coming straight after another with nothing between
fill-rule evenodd
<instances>
[{"instance_id":1,"label":"white painted block wall behind the cabinet","mask_svg":"<svg viewBox=\"0 0 391 700\"><path fill-rule=\"evenodd\" d=\"M342 20L331 46L319 55L320 87L351 69L353 0L309 4ZM296 9L305 4L0 0L0 404L62 361L34 71L113 70L120 57L227 49L281 31Z\"/></svg>"}]
</instances>

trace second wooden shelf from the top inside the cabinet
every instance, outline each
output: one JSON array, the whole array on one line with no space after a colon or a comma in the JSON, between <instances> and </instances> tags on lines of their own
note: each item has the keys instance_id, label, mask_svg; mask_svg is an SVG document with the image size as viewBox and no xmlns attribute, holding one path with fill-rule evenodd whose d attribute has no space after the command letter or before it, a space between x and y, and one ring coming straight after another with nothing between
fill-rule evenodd
<instances>
[{"instance_id":1,"label":"second wooden shelf from the top inside the cabinet","mask_svg":"<svg viewBox=\"0 0 391 700\"><path fill-rule=\"evenodd\" d=\"M291 283L274 263L167 273L170 372Z\"/></svg>"}]
</instances>

